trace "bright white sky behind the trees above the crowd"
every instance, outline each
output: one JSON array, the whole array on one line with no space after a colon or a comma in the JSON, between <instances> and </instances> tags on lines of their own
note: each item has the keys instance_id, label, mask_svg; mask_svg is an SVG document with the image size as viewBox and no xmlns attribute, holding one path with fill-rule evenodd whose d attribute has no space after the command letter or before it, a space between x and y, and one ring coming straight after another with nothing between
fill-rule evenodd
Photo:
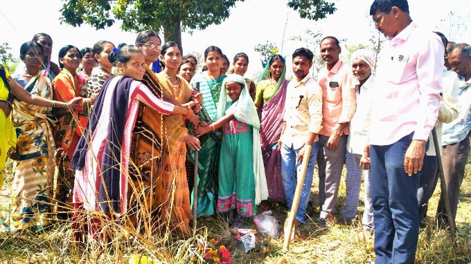
<instances>
[{"instance_id":1,"label":"bright white sky behind the trees above the crowd","mask_svg":"<svg viewBox=\"0 0 471 264\"><path fill-rule=\"evenodd\" d=\"M297 11L287 7L287 0L245 0L237 2L230 10L230 17L220 25L212 25L205 30L195 30L192 35L182 32L184 54L199 53L211 45L221 48L232 63L234 55L240 52L249 56L247 77L254 77L263 69L260 55L254 50L258 44L273 43L280 49L281 55L287 57L290 66L291 54L296 48L305 46L314 55L319 54L317 46L292 40L293 37L307 39L306 30L317 32L323 36L332 35L345 39L341 47L346 53L346 46L369 44L368 39L378 36L371 17L368 15L373 0L330 0L335 3L337 11L321 21L301 19ZM433 3L433 4L432 4ZM106 39L116 46L121 42L134 44L136 32L123 32L117 22L111 28L96 30L88 25L79 28L60 24L60 0L21 0L8 1L0 10L2 33L0 43L8 42L10 52L19 57L19 47L32 39L37 32L46 32L53 38L52 59L57 63L57 53L68 44L78 48L91 47L96 41ZM471 28L457 31L450 30L450 12L452 19L463 17L471 21L470 0L409 0L409 11L412 19L429 30L439 30L447 37L452 35L456 42L471 44ZM445 21L441 21L444 19ZM450 32L451 31L451 32ZM163 37L163 33L159 34ZM164 40L166 41L166 40ZM287 69L291 71L290 68Z\"/></svg>"}]
</instances>

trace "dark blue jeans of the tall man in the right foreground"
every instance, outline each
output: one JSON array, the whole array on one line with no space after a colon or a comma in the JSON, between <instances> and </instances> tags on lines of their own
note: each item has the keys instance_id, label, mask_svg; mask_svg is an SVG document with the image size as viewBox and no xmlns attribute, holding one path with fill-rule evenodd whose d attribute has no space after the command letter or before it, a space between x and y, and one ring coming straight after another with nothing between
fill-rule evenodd
<instances>
[{"instance_id":1,"label":"dark blue jeans of the tall man in the right foreground","mask_svg":"<svg viewBox=\"0 0 471 264\"><path fill-rule=\"evenodd\" d=\"M371 196L376 263L414 263L418 241L417 173L408 176L404 158L412 133L390 145L371 145Z\"/></svg>"}]
</instances>

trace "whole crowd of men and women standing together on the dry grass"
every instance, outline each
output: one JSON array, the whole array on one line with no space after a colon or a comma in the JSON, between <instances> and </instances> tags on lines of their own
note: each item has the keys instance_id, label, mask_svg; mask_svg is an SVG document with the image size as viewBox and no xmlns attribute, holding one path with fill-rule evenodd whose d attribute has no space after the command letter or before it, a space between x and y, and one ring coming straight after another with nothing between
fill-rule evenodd
<instances>
[{"instance_id":1,"label":"whole crowd of men and women standing together on the dry grass","mask_svg":"<svg viewBox=\"0 0 471 264\"><path fill-rule=\"evenodd\" d=\"M292 211L308 159L294 227L310 213L317 162L319 222L360 219L364 182L361 219L375 234L377 263L414 263L438 158L456 218L470 152L471 47L416 26L407 0L375 0L370 15L388 39L377 61L359 49L342 62L339 40L328 36L317 79L314 54L298 48L291 81L281 55L252 80L243 77L245 53L229 67L217 46L206 48L195 73L197 59L152 30L132 45L64 46L55 64L51 36L38 33L21 46L15 73L0 67L0 170L6 158L15 160L1 223L13 231L42 229L51 216L71 219L82 243L112 236L103 234L103 217L138 233L188 236L195 190L197 216L224 214L236 226L269 209L269 201L285 201ZM442 194L442 226L444 202Z\"/></svg>"}]
</instances>

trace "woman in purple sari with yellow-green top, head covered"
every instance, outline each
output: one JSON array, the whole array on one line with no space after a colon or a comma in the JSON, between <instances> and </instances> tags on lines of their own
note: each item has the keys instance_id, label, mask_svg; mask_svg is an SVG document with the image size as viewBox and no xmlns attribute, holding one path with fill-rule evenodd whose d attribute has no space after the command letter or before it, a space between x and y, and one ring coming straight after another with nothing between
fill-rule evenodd
<instances>
[{"instance_id":1,"label":"woman in purple sari with yellow-green top, head covered","mask_svg":"<svg viewBox=\"0 0 471 264\"><path fill-rule=\"evenodd\" d=\"M288 84L285 73L285 58L273 55L258 79L255 95L255 106L262 114L260 144L267 177L268 198L277 202L285 200L281 181L281 155L278 148Z\"/></svg>"}]
</instances>

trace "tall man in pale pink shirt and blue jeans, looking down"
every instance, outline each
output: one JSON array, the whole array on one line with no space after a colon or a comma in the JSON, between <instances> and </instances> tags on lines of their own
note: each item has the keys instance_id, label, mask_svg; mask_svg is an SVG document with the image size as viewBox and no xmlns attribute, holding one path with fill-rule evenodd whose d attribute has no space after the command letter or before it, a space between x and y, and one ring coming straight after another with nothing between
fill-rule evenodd
<instances>
[{"instance_id":1,"label":"tall man in pale pink shirt and blue jeans, looking down","mask_svg":"<svg viewBox=\"0 0 471 264\"><path fill-rule=\"evenodd\" d=\"M375 263L414 263L416 198L429 133L441 101L443 44L409 15L407 0L375 0L375 28L388 39L377 61L370 157Z\"/></svg>"}]
</instances>

